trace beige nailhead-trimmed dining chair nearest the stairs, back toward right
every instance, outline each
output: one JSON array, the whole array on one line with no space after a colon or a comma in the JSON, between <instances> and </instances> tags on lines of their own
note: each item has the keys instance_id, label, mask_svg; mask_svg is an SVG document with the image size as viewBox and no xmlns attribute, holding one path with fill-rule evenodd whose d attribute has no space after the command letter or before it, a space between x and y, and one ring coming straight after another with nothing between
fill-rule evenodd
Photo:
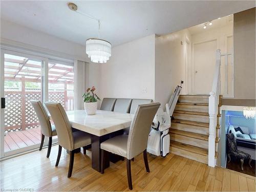
<instances>
[{"instance_id":1,"label":"beige nailhead-trimmed dining chair nearest the stairs, back toward right","mask_svg":"<svg viewBox=\"0 0 256 192\"><path fill-rule=\"evenodd\" d=\"M140 104L135 112L129 135L112 137L100 144L101 148L101 173L104 173L104 162L109 153L126 158L126 172L129 188L133 189L131 174L131 159L143 152L146 172L150 173L147 161L147 139L151 124L160 103Z\"/></svg>"}]
</instances>

